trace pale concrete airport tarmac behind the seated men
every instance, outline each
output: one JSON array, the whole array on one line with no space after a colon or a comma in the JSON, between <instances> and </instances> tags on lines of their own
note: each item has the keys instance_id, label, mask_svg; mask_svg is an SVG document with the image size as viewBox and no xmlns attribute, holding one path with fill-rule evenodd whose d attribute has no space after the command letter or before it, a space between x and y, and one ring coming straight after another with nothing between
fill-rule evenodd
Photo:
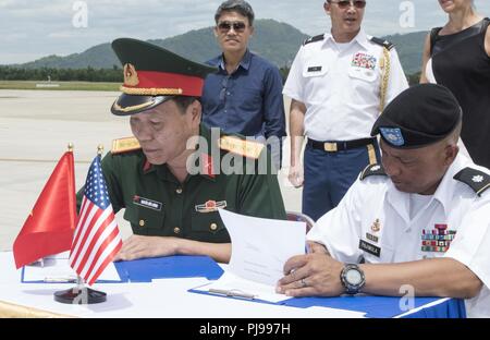
<instances>
[{"instance_id":1,"label":"pale concrete airport tarmac behind the seated men","mask_svg":"<svg viewBox=\"0 0 490 340\"><path fill-rule=\"evenodd\" d=\"M128 118L110 113L118 93L65 90L0 90L0 251L13 241L34 207L57 161L74 144L76 187L84 184L90 161L102 144L131 136ZM286 112L289 102L286 101ZM287 116L287 114L286 114ZM289 166L289 141L283 165ZM301 211L302 190L287 181L287 168L279 173L287 210ZM118 212L123 239L131 227Z\"/></svg>"}]
</instances>

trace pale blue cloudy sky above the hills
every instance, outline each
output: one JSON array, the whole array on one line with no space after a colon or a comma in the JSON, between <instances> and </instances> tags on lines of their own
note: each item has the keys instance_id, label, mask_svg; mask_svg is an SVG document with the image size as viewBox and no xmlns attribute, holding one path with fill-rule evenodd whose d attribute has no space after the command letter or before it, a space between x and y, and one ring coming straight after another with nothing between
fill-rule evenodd
<instances>
[{"instance_id":1,"label":"pale blue cloudy sky above the hills","mask_svg":"<svg viewBox=\"0 0 490 340\"><path fill-rule=\"evenodd\" d=\"M79 8L74 10L79 2L88 9L87 15ZM330 27L323 0L248 2L257 19L285 22L308 35ZM445 21L437 0L367 2L364 27L371 35L426 31ZM123 36L158 39L212 26L220 3L221 0L0 0L0 64L83 52ZM490 0L475 3L480 13L490 15ZM411 5L414 15L407 16ZM85 17L87 27L79 27ZM412 26L411 21L413 27L406 27Z\"/></svg>"}]
</instances>

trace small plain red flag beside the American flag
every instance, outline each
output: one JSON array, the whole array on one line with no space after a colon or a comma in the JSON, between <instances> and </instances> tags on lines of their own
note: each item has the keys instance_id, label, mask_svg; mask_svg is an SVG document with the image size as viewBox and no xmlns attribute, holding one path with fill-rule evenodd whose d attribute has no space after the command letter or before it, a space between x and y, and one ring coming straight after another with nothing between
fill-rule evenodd
<instances>
[{"instance_id":1,"label":"small plain red flag beside the American flag","mask_svg":"<svg viewBox=\"0 0 490 340\"><path fill-rule=\"evenodd\" d=\"M70 147L58 161L15 239L13 254L17 269L45 256L69 251L75 226L75 169Z\"/></svg>"}]
</instances>

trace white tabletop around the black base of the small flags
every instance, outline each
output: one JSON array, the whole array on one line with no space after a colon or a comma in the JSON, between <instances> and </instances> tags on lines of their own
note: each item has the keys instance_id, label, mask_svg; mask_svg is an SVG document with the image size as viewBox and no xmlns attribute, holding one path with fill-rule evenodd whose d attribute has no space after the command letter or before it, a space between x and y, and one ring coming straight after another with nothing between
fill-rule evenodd
<instances>
[{"instance_id":1,"label":"white tabletop around the black base of the small flags","mask_svg":"<svg viewBox=\"0 0 490 340\"><path fill-rule=\"evenodd\" d=\"M296 308L187 292L205 278L160 279L151 283L96 283L107 302L93 305L58 303L53 293L73 283L21 283L11 252L0 253L0 301L79 317L168 318L327 318L364 317L364 313L327 307Z\"/></svg>"}]
</instances>

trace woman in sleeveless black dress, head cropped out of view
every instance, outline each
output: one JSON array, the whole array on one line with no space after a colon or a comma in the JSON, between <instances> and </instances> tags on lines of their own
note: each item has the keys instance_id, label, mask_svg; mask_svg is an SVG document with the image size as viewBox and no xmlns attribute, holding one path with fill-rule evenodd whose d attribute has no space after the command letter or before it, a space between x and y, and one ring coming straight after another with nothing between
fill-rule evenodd
<instances>
[{"instance_id":1,"label":"woman in sleeveless black dress, head cropped out of view","mask_svg":"<svg viewBox=\"0 0 490 340\"><path fill-rule=\"evenodd\" d=\"M451 89L463 109L461 138L469 156L490 168L490 20L471 0L439 0L449 21L424 47L420 83Z\"/></svg>"}]
</instances>

